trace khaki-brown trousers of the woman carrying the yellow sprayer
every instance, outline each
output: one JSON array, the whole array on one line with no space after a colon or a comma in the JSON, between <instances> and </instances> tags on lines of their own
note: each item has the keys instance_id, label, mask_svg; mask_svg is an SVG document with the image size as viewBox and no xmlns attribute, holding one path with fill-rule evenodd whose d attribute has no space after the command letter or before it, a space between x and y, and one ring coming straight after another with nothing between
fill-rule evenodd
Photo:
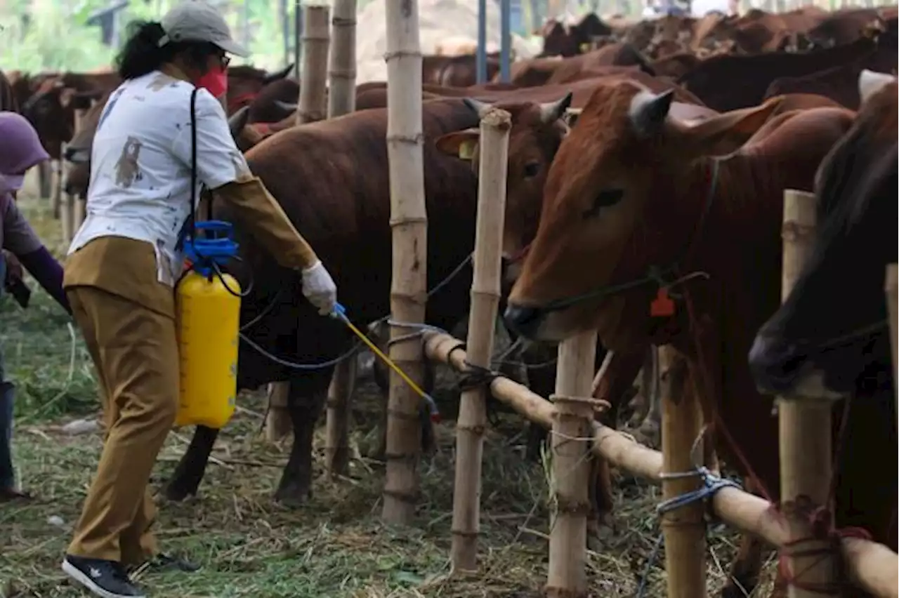
<instances>
[{"instance_id":1,"label":"khaki-brown trousers of the woman carrying the yellow sprayer","mask_svg":"<svg viewBox=\"0 0 899 598\"><path fill-rule=\"evenodd\" d=\"M138 565L156 554L147 488L178 406L172 318L95 286L68 301L100 383L106 438L68 554Z\"/></svg>"}]
</instances>

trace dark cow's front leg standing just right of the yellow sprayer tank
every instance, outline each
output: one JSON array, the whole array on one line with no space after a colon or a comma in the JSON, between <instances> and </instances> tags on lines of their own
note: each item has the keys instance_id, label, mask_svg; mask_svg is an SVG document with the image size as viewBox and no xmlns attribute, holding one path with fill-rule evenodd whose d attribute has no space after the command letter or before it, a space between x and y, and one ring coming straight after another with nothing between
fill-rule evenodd
<instances>
[{"instance_id":1,"label":"dark cow's front leg standing just right of the yellow sprayer tank","mask_svg":"<svg viewBox=\"0 0 899 598\"><path fill-rule=\"evenodd\" d=\"M327 399L333 368L290 380L288 413L293 424L293 446L281 473L275 500L300 506L312 497L312 441Z\"/></svg>"}]
</instances>

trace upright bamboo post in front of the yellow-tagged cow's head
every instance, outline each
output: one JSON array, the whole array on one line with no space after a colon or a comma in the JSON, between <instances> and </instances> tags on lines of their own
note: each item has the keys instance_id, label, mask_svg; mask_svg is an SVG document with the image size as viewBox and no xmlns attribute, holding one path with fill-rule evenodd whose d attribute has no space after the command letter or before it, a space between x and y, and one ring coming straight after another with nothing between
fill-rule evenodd
<instances>
[{"instance_id":1,"label":"upright bamboo post in front of the yellow-tagged cow's head","mask_svg":"<svg viewBox=\"0 0 899 598\"><path fill-rule=\"evenodd\" d=\"M490 368L494 354L496 312L500 303L500 270L505 225L506 171L512 117L505 110L487 108L481 114L480 171L477 189L474 278L468 312L468 363ZM477 385L462 392L456 422L456 482L452 501L452 566L477 567L480 532L481 461L487 425L487 388Z\"/></svg>"}]
</instances>

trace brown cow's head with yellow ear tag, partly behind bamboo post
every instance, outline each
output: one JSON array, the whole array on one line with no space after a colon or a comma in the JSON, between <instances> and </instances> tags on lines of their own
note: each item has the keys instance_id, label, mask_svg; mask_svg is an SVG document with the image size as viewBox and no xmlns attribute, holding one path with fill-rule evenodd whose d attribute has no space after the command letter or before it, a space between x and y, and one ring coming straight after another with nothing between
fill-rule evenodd
<instances>
[{"instance_id":1,"label":"brown cow's head with yellow ear tag, partly behind bamboo post","mask_svg":"<svg viewBox=\"0 0 899 598\"><path fill-rule=\"evenodd\" d=\"M559 144L568 132L561 120L571 104L572 94L558 101L498 102L496 108L507 110L512 116L509 132L509 162L506 176L505 228L503 230L503 258L510 268L506 276L516 276L521 259L537 233L543 185L549 165L556 156ZM467 106L481 114L487 104L466 100ZM437 147L442 152L470 160L478 172L480 130L469 128L441 136Z\"/></svg>"}]
</instances>

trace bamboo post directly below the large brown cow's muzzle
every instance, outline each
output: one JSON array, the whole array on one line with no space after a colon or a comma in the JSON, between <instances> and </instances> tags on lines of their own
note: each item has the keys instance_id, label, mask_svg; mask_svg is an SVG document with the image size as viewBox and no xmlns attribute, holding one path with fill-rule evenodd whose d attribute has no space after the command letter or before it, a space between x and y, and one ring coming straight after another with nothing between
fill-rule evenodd
<instances>
[{"instance_id":1,"label":"bamboo post directly below the large brown cow's muzzle","mask_svg":"<svg viewBox=\"0 0 899 598\"><path fill-rule=\"evenodd\" d=\"M556 513L549 532L548 598L587 595L587 515L591 512L590 397L596 332L584 332L559 344L556 403L552 418L552 492Z\"/></svg>"}]
</instances>

